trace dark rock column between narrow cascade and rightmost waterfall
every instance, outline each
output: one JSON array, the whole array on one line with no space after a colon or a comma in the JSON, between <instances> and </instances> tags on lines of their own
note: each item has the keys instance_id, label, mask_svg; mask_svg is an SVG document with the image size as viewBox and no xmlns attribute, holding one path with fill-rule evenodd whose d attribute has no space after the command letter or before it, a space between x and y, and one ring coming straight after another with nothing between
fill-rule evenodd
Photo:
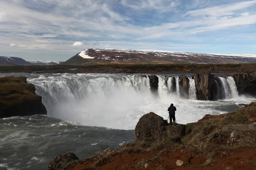
<instances>
[{"instance_id":1,"label":"dark rock column between narrow cascade and rightmost waterfall","mask_svg":"<svg viewBox=\"0 0 256 170\"><path fill-rule=\"evenodd\" d=\"M197 90L197 99L198 100L213 100L213 84L214 84L214 75L210 73L206 74L195 74L193 75L195 79L195 86Z\"/></svg>"}]
</instances>

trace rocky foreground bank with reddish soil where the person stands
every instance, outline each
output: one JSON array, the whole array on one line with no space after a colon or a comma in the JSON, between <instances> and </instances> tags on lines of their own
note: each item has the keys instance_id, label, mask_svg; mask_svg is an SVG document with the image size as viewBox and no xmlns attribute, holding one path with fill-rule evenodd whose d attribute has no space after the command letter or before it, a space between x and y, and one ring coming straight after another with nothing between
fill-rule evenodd
<instances>
[{"instance_id":1,"label":"rocky foreground bank with reddish soil where the person stands","mask_svg":"<svg viewBox=\"0 0 256 170\"><path fill-rule=\"evenodd\" d=\"M48 169L254 170L255 127L256 103L227 114L206 115L187 125L169 126L162 117L148 113L135 128L134 144L80 161L68 153L55 157Z\"/></svg>"}]
</instances>

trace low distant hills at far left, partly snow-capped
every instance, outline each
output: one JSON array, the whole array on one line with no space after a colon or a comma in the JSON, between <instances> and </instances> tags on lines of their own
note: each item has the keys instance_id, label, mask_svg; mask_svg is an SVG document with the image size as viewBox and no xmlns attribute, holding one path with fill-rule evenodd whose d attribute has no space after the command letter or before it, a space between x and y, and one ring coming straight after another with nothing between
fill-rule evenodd
<instances>
[{"instance_id":1,"label":"low distant hills at far left, partly snow-capped","mask_svg":"<svg viewBox=\"0 0 256 170\"><path fill-rule=\"evenodd\" d=\"M26 61L19 57L0 56L0 66L3 65L57 65L59 61Z\"/></svg>"}]
</instances>

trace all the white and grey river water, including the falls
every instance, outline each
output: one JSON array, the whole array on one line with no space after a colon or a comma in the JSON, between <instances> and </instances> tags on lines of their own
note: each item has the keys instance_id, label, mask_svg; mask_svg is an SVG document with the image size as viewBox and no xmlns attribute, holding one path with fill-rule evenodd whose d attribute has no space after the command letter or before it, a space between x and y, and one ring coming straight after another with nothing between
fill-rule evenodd
<instances>
[{"instance_id":1,"label":"all the white and grey river water, including the falls","mask_svg":"<svg viewBox=\"0 0 256 170\"><path fill-rule=\"evenodd\" d=\"M177 122L186 124L255 101L238 95L232 77L218 77L217 93L222 100L199 101L195 80L189 75L189 99L180 97L178 74L157 75L158 94L151 93L149 78L140 74L3 76L28 77L43 97L48 115L0 119L0 169L46 169L58 154L73 151L82 159L133 142L140 117L153 111L167 119L171 103L177 108Z\"/></svg>"}]
</instances>

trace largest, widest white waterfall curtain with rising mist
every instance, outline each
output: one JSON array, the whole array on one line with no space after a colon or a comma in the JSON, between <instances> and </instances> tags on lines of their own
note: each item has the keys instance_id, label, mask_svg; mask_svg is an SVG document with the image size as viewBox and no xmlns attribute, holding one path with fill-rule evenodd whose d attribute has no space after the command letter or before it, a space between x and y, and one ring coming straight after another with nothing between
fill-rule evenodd
<instances>
[{"instance_id":1,"label":"largest, widest white waterfall curtain with rising mist","mask_svg":"<svg viewBox=\"0 0 256 170\"><path fill-rule=\"evenodd\" d=\"M109 122L116 120L117 128L135 106L154 98L149 78L140 75L64 74L29 82L43 97L49 116L89 126L111 127Z\"/></svg>"}]
</instances>

